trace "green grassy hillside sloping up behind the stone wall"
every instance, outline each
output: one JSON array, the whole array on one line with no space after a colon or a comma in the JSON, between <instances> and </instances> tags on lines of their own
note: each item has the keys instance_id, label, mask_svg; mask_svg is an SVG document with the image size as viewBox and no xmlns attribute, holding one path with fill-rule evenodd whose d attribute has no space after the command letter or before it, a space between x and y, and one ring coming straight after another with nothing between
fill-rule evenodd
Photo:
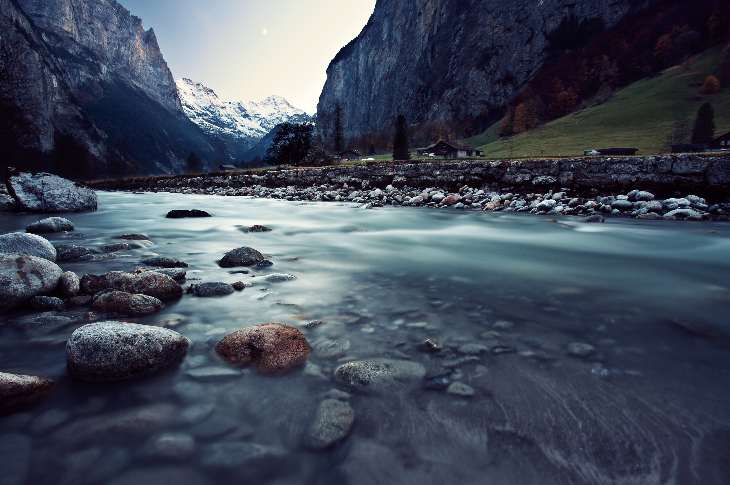
<instances>
[{"instance_id":1,"label":"green grassy hillside sloping up behind the stone wall","mask_svg":"<svg viewBox=\"0 0 730 485\"><path fill-rule=\"evenodd\" d=\"M604 104L577 110L531 131L491 141L499 123L464 144L484 150L488 158L510 156L579 156L596 148L637 148L640 155L669 152L667 136L675 121L689 117L691 123L700 105L715 109L715 134L730 131L730 88L718 93L691 96L720 62L723 46L713 47L691 61L689 72L677 67L652 80L639 80L622 88ZM689 140L685 140L688 143ZM480 145L481 143L481 145Z\"/></svg>"}]
</instances>

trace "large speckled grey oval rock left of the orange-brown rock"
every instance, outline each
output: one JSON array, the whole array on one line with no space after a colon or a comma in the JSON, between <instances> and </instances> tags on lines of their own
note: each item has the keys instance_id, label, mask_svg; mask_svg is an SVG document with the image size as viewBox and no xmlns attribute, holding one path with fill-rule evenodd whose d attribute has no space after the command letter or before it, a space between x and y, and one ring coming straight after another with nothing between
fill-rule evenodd
<instances>
[{"instance_id":1,"label":"large speckled grey oval rock left of the orange-brown rock","mask_svg":"<svg viewBox=\"0 0 730 485\"><path fill-rule=\"evenodd\" d=\"M174 330L104 321L74 331L66 343L66 367L81 381L115 381L166 367L188 345Z\"/></svg>"}]
</instances>

